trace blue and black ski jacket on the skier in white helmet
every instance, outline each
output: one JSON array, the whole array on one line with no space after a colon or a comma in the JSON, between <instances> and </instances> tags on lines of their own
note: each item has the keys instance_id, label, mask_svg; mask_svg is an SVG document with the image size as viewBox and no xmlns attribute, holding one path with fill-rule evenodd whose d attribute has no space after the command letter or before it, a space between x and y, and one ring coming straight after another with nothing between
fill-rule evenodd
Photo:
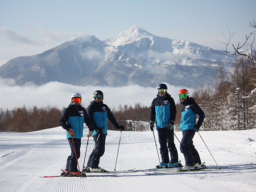
<instances>
[{"instance_id":1,"label":"blue and black ski jacket on the skier in white helmet","mask_svg":"<svg viewBox=\"0 0 256 192\"><path fill-rule=\"evenodd\" d=\"M83 108L81 105L74 105L72 102L67 108L65 108L60 118L60 125L66 130L67 139L71 138L71 135L69 135L67 131L69 128L73 129L75 133L73 138L80 139L84 129L84 122L90 129L92 122L88 117L85 108Z\"/></svg>"}]
</instances>

